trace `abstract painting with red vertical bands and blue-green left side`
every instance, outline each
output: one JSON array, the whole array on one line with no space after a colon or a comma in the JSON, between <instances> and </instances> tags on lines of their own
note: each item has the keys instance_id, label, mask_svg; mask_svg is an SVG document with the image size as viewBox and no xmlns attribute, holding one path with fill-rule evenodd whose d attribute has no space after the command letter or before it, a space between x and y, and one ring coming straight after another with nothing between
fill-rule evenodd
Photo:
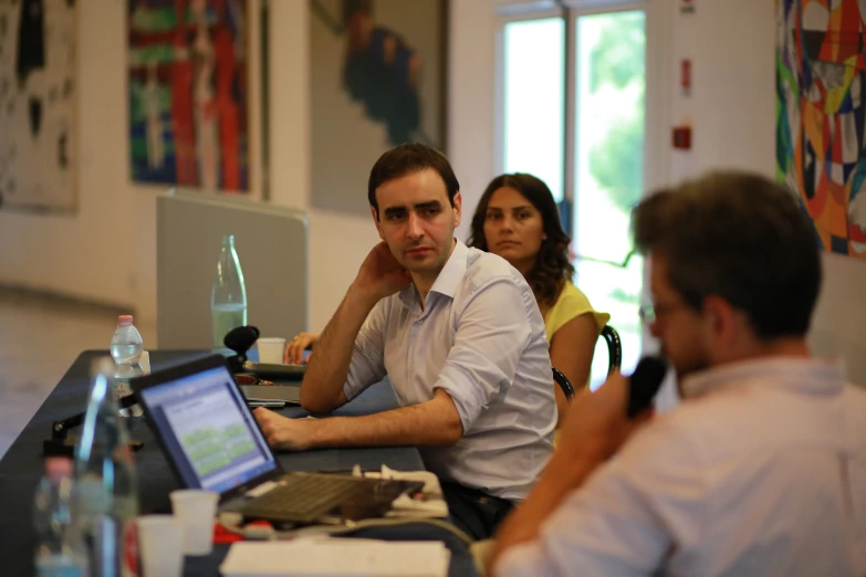
<instances>
[{"instance_id":1,"label":"abstract painting with red vertical bands and blue-green left side","mask_svg":"<svg viewBox=\"0 0 866 577\"><path fill-rule=\"evenodd\" d=\"M250 188L247 0L128 0L136 182Z\"/></svg>"}]
</instances>

